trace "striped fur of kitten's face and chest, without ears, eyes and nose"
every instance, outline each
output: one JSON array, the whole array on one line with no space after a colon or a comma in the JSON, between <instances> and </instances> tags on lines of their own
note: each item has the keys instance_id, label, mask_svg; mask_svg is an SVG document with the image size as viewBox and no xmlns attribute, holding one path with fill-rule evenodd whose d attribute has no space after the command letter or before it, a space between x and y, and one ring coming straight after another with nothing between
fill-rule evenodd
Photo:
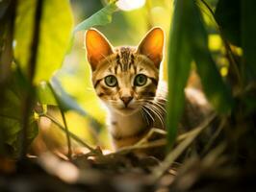
<instances>
[{"instance_id":1,"label":"striped fur of kitten's face and chest, without ears, eyes and nose","mask_svg":"<svg viewBox=\"0 0 256 192\"><path fill-rule=\"evenodd\" d=\"M138 74L148 77L144 86L133 84ZM108 87L104 83L104 77L108 75L115 75L118 82L116 87ZM92 82L98 97L110 109L109 128L115 148L132 145L140 140L152 126L152 118L155 118L150 109L142 109L142 106L149 101L154 103L159 69L151 60L137 54L134 48L120 47L115 49L113 55L99 63L97 69L92 72ZM129 108L124 108L120 100L125 95L133 97Z\"/></svg>"}]
</instances>

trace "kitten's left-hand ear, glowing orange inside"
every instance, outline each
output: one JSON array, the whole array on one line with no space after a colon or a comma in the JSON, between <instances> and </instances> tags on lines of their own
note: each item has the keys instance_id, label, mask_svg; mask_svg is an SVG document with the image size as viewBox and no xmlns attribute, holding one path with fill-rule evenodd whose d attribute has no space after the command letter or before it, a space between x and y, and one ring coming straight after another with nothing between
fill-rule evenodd
<instances>
[{"instance_id":1,"label":"kitten's left-hand ear, glowing orange inside","mask_svg":"<svg viewBox=\"0 0 256 192\"><path fill-rule=\"evenodd\" d=\"M92 70L96 68L100 60L113 54L113 48L110 42L95 29L90 29L86 32L85 46Z\"/></svg>"}]
</instances>

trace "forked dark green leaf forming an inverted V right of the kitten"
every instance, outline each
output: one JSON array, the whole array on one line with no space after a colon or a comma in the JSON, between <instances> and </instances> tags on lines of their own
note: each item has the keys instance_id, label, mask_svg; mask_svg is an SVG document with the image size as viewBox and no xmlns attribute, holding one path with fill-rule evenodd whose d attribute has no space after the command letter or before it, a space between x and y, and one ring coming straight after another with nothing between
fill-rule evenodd
<instances>
[{"instance_id":1,"label":"forked dark green leaf forming an inverted V right of the kitten","mask_svg":"<svg viewBox=\"0 0 256 192\"><path fill-rule=\"evenodd\" d=\"M172 26L168 42L168 146L175 140L184 108L184 88L195 60L204 91L218 112L227 112L232 106L229 89L223 83L218 68L208 49L208 36L195 1L174 2Z\"/></svg>"}]
</instances>

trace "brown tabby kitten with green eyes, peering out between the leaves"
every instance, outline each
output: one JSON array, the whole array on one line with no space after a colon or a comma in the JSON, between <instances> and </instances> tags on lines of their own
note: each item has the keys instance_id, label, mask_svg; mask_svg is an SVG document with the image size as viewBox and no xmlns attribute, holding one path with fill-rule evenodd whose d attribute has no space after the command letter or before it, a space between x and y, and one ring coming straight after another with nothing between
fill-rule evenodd
<instances>
[{"instance_id":1,"label":"brown tabby kitten with green eyes, peering out between the leaves","mask_svg":"<svg viewBox=\"0 0 256 192\"><path fill-rule=\"evenodd\" d=\"M165 33L160 27L151 29L138 47L114 48L97 30L86 32L92 84L109 110L108 129L115 150L136 144L152 128L166 130L166 85L160 80L164 45ZM180 127L194 127L207 113L201 106L206 108L208 103L200 92L187 89L185 93Z\"/></svg>"}]
</instances>

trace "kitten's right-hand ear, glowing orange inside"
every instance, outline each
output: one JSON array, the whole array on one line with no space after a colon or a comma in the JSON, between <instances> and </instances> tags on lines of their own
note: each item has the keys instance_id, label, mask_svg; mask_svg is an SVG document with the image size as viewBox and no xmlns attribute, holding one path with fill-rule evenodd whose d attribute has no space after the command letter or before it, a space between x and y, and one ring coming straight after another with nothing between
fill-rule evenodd
<instances>
[{"instance_id":1,"label":"kitten's right-hand ear, glowing orange inside","mask_svg":"<svg viewBox=\"0 0 256 192\"><path fill-rule=\"evenodd\" d=\"M137 52L148 57L159 68L163 59L164 41L164 31L159 27L153 28L143 37Z\"/></svg>"}]
</instances>

